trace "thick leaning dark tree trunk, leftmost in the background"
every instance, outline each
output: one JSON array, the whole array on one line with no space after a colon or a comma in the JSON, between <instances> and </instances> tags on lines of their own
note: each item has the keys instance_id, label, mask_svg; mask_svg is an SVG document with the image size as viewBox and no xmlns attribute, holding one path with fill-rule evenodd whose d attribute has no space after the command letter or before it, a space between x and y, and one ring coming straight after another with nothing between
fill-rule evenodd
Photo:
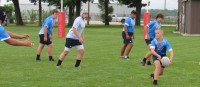
<instances>
[{"instance_id":1,"label":"thick leaning dark tree trunk, leftmost in the background","mask_svg":"<svg viewBox=\"0 0 200 87\"><path fill-rule=\"evenodd\" d=\"M15 16L16 16L16 25L24 25L24 22L22 21L22 16L19 8L19 0L12 0L15 8Z\"/></svg>"}]
</instances>

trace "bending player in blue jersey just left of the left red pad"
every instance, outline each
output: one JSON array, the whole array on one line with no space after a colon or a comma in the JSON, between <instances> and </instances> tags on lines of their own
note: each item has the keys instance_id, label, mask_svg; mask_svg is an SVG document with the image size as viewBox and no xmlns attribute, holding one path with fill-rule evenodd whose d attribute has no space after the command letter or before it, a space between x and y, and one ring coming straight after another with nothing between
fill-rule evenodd
<instances>
[{"instance_id":1,"label":"bending player in blue jersey just left of the left red pad","mask_svg":"<svg viewBox=\"0 0 200 87\"><path fill-rule=\"evenodd\" d=\"M39 31L40 44L37 49L37 56L36 56L37 61L40 60L40 55L45 45L48 46L49 61L54 61L52 57L52 37L53 37L53 27L56 23L57 16L58 16L58 11L54 9L52 11L52 15L47 17L42 24L42 28Z\"/></svg>"}]
</instances>

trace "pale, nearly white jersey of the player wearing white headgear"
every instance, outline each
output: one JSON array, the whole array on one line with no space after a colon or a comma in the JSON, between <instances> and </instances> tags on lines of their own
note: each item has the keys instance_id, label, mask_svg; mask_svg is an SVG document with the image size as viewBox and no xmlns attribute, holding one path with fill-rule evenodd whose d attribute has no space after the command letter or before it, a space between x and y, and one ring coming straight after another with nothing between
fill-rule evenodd
<instances>
[{"instance_id":1,"label":"pale, nearly white jersey of the player wearing white headgear","mask_svg":"<svg viewBox=\"0 0 200 87\"><path fill-rule=\"evenodd\" d=\"M74 21L72 28L69 30L69 32L66 36L66 38L71 38L71 39L77 40L78 38L76 37L76 35L73 32L73 27L77 29L78 35L81 36L81 34L85 28L84 19L81 16L77 17Z\"/></svg>"}]
</instances>

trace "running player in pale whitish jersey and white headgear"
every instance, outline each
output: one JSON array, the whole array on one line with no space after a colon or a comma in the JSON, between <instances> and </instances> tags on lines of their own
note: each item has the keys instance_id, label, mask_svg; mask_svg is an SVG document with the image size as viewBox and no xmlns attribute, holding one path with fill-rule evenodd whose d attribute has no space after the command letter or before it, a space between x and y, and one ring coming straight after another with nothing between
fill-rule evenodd
<instances>
[{"instance_id":1,"label":"running player in pale whitish jersey and white headgear","mask_svg":"<svg viewBox=\"0 0 200 87\"><path fill-rule=\"evenodd\" d=\"M64 51L60 54L57 67L60 67L62 64L62 61L65 59L67 54L70 52L72 47L76 47L78 50L77 54L77 60L74 67L79 67L81 60L84 55L84 28L85 28L85 19L88 18L88 12L86 10L83 10L81 12L81 16L77 17L73 23L72 28L69 30L67 36L66 36L66 43Z\"/></svg>"}]
</instances>

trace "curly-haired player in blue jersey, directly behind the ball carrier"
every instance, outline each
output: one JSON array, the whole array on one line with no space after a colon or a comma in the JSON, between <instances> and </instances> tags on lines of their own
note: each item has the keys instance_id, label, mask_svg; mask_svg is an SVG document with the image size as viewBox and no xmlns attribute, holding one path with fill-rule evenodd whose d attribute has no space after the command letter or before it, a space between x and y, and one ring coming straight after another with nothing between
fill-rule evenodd
<instances>
[{"instance_id":1,"label":"curly-haired player in blue jersey, directly behind the ball carrier","mask_svg":"<svg viewBox=\"0 0 200 87\"><path fill-rule=\"evenodd\" d=\"M151 21L147 26L144 27L146 29L147 35L145 36L145 42L148 46L148 52L144 56L142 60L142 65L146 65L146 60L148 60L147 65L151 65L150 58L151 58L151 51L150 51L150 44L151 41L155 38L155 31L161 28L161 22L164 20L164 16L162 14L158 14L156 16L156 20Z\"/></svg>"}]
</instances>

